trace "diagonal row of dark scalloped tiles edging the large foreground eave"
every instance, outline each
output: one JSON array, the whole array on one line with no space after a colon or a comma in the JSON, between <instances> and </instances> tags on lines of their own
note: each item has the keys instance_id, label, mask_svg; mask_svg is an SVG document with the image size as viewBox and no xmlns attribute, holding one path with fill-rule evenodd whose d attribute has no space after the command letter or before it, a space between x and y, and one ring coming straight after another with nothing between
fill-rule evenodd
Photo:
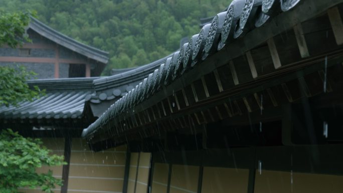
<instances>
[{"instance_id":1,"label":"diagonal row of dark scalloped tiles edging the large foreground eave","mask_svg":"<svg viewBox=\"0 0 343 193\"><path fill-rule=\"evenodd\" d=\"M243 38L247 32L261 27L280 12L287 12L299 2L300 0L234 0L225 12L214 17L211 24L204 25L200 33L193 36L181 51L164 58L164 64L154 73L150 73L134 89L112 104L99 119L84 129L82 136L89 137L98 129L108 128L110 121L158 92L162 86L170 84L184 72L206 60L208 56L230 45L236 39ZM261 7L262 12L259 10ZM129 78L132 75L123 73L120 76ZM94 82L103 81L107 80L98 79ZM111 84L117 83L109 80L108 86Z\"/></svg>"}]
</instances>

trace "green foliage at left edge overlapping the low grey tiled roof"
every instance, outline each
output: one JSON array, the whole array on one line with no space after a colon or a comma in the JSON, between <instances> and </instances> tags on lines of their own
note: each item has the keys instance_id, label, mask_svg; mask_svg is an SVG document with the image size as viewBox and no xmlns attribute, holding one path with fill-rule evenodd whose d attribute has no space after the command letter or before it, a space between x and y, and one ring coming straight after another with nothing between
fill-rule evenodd
<instances>
[{"instance_id":1,"label":"green foliage at left edge overlapping the low grey tiled roof","mask_svg":"<svg viewBox=\"0 0 343 193\"><path fill-rule=\"evenodd\" d=\"M18 106L19 102L32 101L44 94L37 86L30 89L26 83L35 75L34 72L27 72L23 66L0 67L0 105Z\"/></svg>"}]
</instances>

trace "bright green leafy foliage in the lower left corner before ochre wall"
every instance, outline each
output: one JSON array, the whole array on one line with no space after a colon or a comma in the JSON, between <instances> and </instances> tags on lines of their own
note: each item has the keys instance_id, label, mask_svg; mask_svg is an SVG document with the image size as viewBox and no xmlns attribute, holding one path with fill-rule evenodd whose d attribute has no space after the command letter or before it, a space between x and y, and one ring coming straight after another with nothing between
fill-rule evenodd
<instances>
[{"instance_id":1,"label":"bright green leafy foliage in the lower left corner before ochre wall","mask_svg":"<svg viewBox=\"0 0 343 193\"><path fill-rule=\"evenodd\" d=\"M44 165L62 165L63 156L50 155L50 150L41 146L39 139L24 138L11 129L0 133L0 192L16 193L19 187L41 187L43 191L53 192L55 184L62 180L48 173L36 173Z\"/></svg>"}]
</instances>

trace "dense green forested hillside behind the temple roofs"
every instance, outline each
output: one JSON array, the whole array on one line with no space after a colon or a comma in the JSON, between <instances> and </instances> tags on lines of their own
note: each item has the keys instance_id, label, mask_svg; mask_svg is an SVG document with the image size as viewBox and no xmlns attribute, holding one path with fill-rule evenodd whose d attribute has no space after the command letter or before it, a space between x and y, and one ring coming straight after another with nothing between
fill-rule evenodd
<instances>
[{"instance_id":1,"label":"dense green forested hillside behind the temple roofs","mask_svg":"<svg viewBox=\"0 0 343 193\"><path fill-rule=\"evenodd\" d=\"M50 27L110 53L104 71L143 65L179 48L199 33L200 18L230 0L0 0L6 12L36 11Z\"/></svg>"}]
</instances>

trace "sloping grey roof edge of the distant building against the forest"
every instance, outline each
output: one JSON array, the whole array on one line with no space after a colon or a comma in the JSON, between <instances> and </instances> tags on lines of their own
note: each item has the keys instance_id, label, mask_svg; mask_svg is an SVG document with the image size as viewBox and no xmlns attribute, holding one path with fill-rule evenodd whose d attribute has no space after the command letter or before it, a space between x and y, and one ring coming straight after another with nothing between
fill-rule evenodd
<instances>
[{"instance_id":1,"label":"sloping grey roof edge of the distant building against the forest","mask_svg":"<svg viewBox=\"0 0 343 193\"><path fill-rule=\"evenodd\" d=\"M95 61L107 64L108 52L82 44L31 17L29 28L41 36Z\"/></svg>"}]
</instances>

